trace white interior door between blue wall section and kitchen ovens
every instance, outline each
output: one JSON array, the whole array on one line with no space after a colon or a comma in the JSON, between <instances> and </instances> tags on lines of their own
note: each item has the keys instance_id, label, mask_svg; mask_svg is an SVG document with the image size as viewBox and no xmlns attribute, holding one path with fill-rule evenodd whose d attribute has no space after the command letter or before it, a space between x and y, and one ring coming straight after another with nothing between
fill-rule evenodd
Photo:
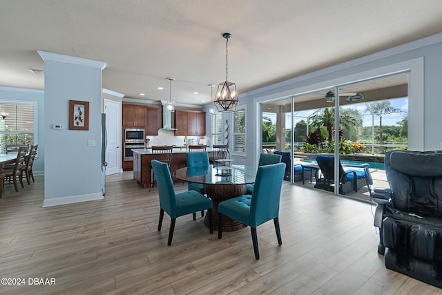
<instances>
[{"instance_id":1,"label":"white interior door between blue wall section and kitchen ovens","mask_svg":"<svg viewBox=\"0 0 442 295\"><path fill-rule=\"evenodd\" d=\"M106 175L119 173L121 165L121 126L120 122L121 103L114 102L110 99L104 99L104 113L106 113L106 131L107 131L107 148L106 148Z\"/></svg>"}]
</instances>

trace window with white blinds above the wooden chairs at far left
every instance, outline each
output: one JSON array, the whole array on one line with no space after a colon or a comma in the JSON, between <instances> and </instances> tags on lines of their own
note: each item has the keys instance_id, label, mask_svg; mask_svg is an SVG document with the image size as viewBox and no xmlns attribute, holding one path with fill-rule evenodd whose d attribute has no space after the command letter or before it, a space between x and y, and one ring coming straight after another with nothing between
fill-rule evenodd
<instances>
[{"instance_id":1,"label":"window with white blinds above the wooden chairs at far left","mask_svg":"<svg viewBox=\"0 0 442 295\"><path fill-rule=\"evenodd\" d=\"M0 153L9 144L34 144L34 104L0 103Z\"/></svg>"}]
</instances>

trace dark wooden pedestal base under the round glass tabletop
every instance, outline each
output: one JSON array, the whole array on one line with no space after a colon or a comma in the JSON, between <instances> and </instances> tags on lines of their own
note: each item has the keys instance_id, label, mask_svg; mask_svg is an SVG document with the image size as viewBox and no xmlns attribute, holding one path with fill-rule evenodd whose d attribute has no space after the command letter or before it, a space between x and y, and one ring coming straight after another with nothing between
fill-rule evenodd
<instances>
[{"instance_id":1,"label":"dark wooden pedestal base under the round glass tabletop","mask_svg":"<svg viewBox=\"0 0 442 295\"><path fill-rule=\"evenodd\" d=\"M213 216L213 229L218 231L218 204L222 201L229 200L246 193L245 184L204 184L204 191L207 196L211 198L213 202L212 216ZM209 216L204 218L204 223L209 227ZM233 220L227 216L222 219L222 231L238 231L246 225L237 220Z\"/></svg>"}]
</instances>

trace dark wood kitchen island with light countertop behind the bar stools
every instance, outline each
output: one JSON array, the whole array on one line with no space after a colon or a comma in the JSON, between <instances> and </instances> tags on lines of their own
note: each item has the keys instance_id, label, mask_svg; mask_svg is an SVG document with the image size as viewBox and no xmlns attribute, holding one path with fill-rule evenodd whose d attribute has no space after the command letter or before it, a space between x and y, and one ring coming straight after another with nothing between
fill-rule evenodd
<instances>
[{"instance_id":1,"label":"dark wood kitchen island with light countertop behind the bar stools","mask_svg":"<svg viewBox=\"0 0 442 295\"><path fill-rule=\"evenodd\" d=\"M151 160L153 159L152 149L133 149L133 179L137 180L142 187L151 187ZM213 160L211 148L207 148L210 160ZM169 167L171 175L173 171L186 166L186 153L189 149L185 146L174 146L172 151L171 166ZM177 179L172 176L172 180Z\"/></svg>"}]
</instances>

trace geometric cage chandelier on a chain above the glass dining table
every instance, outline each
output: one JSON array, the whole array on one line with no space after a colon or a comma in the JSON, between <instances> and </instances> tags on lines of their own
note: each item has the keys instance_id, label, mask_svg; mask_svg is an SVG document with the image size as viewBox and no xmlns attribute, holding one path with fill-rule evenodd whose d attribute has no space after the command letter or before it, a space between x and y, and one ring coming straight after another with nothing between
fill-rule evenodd
<instances>
[{"instance_id":1,"label":"geometric cage chandelier on a chain above the glass dining table","mask_svg":"<svg viewBox=\"0 0 442 295\"><path fill-rule=\"evenodd\" d=\"M229 66L229 38L231 34L228 32L222 34L222 37L226 39L226 81L218 84L218 90L216 91L215 106L218 111L235 111L238 105L238 92L236 91L236 84L229 82L227 79L228 66Z\"/></svg>"}]
</instances>

